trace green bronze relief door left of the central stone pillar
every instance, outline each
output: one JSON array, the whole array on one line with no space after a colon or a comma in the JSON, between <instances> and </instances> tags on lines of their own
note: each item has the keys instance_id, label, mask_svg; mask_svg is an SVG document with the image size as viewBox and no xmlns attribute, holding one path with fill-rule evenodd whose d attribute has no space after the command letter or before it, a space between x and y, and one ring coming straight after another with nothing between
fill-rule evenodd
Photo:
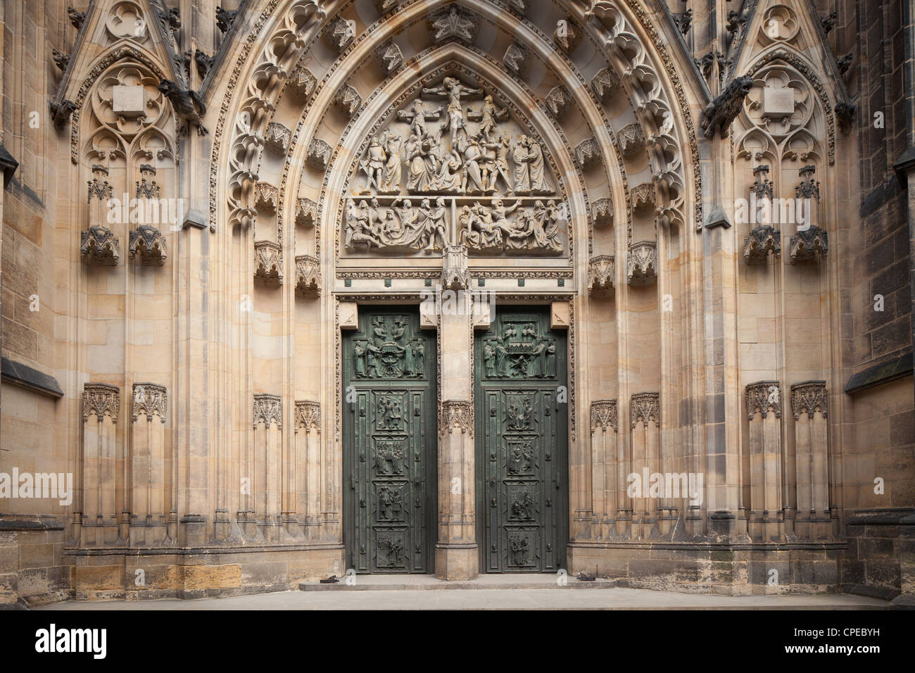
<instances>
[{"instance_id":1,"label":"green bronze relief door left of the central stone pillar","mask_svg":"<svg viewBox=\"0 0 915 673\"><path fill-rule=\"evenodd\" d=\"M415 311L364 309L343 340L347 567L434 570L435 342Z\"/></svg>"}]
</instances>

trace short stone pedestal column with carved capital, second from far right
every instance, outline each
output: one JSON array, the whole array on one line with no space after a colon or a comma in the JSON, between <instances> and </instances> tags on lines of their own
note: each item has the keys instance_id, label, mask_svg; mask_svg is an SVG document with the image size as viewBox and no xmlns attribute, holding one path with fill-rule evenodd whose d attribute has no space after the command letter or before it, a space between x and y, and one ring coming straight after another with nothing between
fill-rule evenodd
<instances>
[{"instance_id":1,"label":"short stone pedestal column with carved capital, second from far right","mask_svg":"<svg viewBox=\"0 0 915 673\"><path fill-rule=\"evenodd\" d=\"M781 494L781 388L778 381L747 386L749 418L749 537L776 542L784 537Z\"/></svg>"}]
</instances>

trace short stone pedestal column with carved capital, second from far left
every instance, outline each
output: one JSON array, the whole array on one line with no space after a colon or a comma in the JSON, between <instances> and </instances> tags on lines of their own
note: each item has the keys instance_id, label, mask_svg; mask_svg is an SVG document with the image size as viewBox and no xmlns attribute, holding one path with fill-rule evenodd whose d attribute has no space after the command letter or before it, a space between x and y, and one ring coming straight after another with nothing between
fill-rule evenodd
<instances>
[{"instance_id":1,"label":"short stone pedestal column with carved capital, second from far left","mask_svg":"<svg viewBox=\"0 0 915 673\"><path fill-rule=\"evenodd\" d=\"M167 391L163 385L135 384L130 426L130 544L155 545L167 538ZM170 462L170 461L168 461Z\"/></svg>"}]
</instances>

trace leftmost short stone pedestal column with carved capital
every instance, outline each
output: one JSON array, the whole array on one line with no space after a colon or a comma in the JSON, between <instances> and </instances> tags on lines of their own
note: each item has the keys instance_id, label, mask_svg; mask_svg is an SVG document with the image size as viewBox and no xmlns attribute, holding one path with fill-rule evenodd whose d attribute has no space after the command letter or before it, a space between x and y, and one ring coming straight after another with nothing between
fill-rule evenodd
<instances>
[{"instance_id":1,"label":"leftmost short stone pedestal column with carved capital","mask_svg":"<svg viewBox=\"0 0 915 673\"><path fill-rule=\"evenodd\" d=\"M120 407L120 388L104 384L83 386L81 547L101 547L118 540L115 483Z\"/></svg>"}]
</instances>

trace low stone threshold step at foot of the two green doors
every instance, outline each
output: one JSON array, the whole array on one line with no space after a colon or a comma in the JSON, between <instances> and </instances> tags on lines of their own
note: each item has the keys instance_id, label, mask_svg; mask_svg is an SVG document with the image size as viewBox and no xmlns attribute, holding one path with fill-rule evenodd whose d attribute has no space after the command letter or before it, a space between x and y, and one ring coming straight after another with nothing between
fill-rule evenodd
<instances>
[{"instance_id":1,"label":"low stone threshold step at foot of the two green doors","mask_svg":"<svg viewBox=\"0 0 915 673\"><path fill-rule=\"evenodd\" d=\"M425 591L456 589L613 589L615 581L580 581L574 577L565 578L565 586L558 583L554 573L536 575L480 575L475 580L439 580L435 575L356 575L354 584L347 584L346 577L339 582L321 584L303 582L298 585L301 592L327 591Z\"/></svg>"}]
</instances>

